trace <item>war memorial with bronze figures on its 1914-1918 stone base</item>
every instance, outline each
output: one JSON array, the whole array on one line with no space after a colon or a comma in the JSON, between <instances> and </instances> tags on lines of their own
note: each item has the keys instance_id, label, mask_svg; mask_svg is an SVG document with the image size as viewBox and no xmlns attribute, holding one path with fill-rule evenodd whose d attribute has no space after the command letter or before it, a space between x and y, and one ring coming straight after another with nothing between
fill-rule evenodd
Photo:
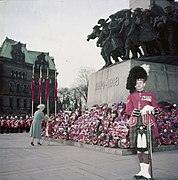
<instances>
[{"instance_id":1,"label":"war memorial with bronze figures on its 1914-1918 stone base","mask_svg":"<svg viewBox=\"0 0 178 180\"><path fill-rule=\"evenodd\" d=\"M149 7L99 19L87 41L96 40L105 65L89 78L88 106L126 102L127 76L138 65L149 67L145 90L153 92L158 103L178 103L177 30L174 1L150 1Z\"/></svg>"}]
</instances>

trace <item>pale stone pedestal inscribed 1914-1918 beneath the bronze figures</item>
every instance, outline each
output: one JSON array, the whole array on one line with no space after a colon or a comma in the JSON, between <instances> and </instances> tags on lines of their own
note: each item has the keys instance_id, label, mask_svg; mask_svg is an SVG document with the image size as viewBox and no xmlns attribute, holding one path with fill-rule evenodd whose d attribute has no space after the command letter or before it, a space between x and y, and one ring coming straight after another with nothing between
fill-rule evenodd
<instances>
[{"instance_id":1,"label":"pale stone pedestal inscribed 1914-1918 beneath the bronze figures","mask_svg":"<svg viewBox=\"0 0 178 180\"><path fill-rule=\"evenodd\" d=\"M177 57L149 57L127 60L101 69L89 78L87 105L91 107L95 104L126 102L129 94L126 90L129 71L133 66L143 64L150 65L145 90L153 92L157 102L178 103L176 62Z\"/></svg>"}]
</instances>

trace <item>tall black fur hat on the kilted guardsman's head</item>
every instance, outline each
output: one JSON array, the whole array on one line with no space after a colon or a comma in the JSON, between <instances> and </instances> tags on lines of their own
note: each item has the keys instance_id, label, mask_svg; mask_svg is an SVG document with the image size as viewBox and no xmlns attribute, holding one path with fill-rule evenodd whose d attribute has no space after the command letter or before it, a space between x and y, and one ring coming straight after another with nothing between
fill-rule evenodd
<instances>
[{"instance_id":1,"label":"tall black fur hat on the kilted guardsman's head","mask_svg":"<svg viewBox=\"0 0 178 180\"><path fill-rule=\"evenodd\" d=\"M130 71L127 77L126 89L133 93L135 91L135 85L137 79L147 80L147 72L141 66L134 66Z\"/></svg>"}]
</instances>

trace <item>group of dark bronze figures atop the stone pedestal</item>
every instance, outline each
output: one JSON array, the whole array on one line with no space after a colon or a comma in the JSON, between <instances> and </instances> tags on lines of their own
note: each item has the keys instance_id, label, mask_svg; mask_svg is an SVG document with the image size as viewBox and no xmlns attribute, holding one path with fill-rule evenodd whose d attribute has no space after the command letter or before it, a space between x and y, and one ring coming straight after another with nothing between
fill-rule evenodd
<instances>
[{"instance_id":1,"label":"group of dark bronze figures atop the stone pedestal","mask_svg":"<svg viewBox=\"0 0 178 180\"><path fill-rule=\"evenodd\" d=\"M96 45L101 47L107 67L113 61L177 55L177 31L178 2L165 9L152 3L149 9L122 9L108 19L99 19L87 41L98 38Z\"/></svg>"}]
</instances>

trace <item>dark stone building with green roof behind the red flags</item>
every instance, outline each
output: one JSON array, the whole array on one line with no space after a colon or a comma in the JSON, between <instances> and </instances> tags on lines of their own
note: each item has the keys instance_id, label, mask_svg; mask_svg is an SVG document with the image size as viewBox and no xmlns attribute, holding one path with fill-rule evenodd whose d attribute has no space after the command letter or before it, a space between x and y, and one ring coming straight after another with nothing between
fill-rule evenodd
<instances>
[{"instance_id":1,"label":"dark stone building with green roof behind the red flags","mask_svg":"<svg viewBox=\"0 0 178 180\"><path fill-rule=\"evenodd\" d=\"M42 101L45 100L45 80L49 68L49 107L54 113L54 84L56 66L49 53L28 50L26 44L6 37L0 47L0 114L26 115L32 112L31 82L34 67L35 93L34 110L37 100L40 67L42 68Z\"/></svg>"}]
</instances>

